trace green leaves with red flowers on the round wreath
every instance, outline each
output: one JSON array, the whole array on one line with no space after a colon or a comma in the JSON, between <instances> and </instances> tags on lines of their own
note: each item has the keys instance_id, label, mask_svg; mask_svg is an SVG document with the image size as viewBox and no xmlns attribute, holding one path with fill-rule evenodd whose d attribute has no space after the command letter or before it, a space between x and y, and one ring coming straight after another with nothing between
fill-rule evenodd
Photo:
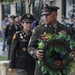
<instances>
[{"instance_id":1,"label":"green leaves with red flowers on the round wreath","mask_svg":"<svg viewBox=\"0 0 75 75\"><path fill-rule=\"evenodd\" d=\"M67 34L64 34L62 32L59 32L58 34L45 34L41 40L39 40L39 43L38 43L38 49L41 49L43 50L43 47L44 45L52 40L52 39L60 39L60 40L63 40L63 41L66 41L66 43L69 45L70 49L72 50L75 50L75 42L71 39L71 36L70 35L67 35ZM58 66L58 65L61 65L65 63L65 58L66 58L66 48L61 46L61 44L57 43L58 45L51 45L49 46L48 50L46 51L46 59L47 59L47 62L49 64L52 64L53 66ZM52 58L50 58L53 50L62 55L62 60L53 60ZM59 61L59 62L57 62ZM38 64L40 65L41 67L41 72L42 72L42 75L44 75L45 73L49 73L50 75L62 75L61 71L59 70L51 70L49 68L47 68L46 65L43 64L43 61L42 59L38 59ZM66 67L63 69L63 73L65 75L68 75L72 72L72 64L74 63L74 57L72 55L72 53L69 53L69 64L66 65Z\"/></svg>"}]
</instances>

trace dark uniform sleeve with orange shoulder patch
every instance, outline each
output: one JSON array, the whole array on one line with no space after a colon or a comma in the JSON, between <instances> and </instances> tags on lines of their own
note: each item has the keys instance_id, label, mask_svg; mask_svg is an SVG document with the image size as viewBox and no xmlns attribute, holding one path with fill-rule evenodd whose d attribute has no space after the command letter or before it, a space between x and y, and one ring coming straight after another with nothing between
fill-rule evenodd
<instances>
[{"instance_id":1,"label":"dark uniform sleeve with orange shoulder patch","mask_svg":"<svg viewBox=\"0 0 75 75\"><path fill-rule=\"evenodd\" d=\"M14 34L12 44L11 44L10 62L9 62L9 68L12 69L15 68L17 47L18 47L18 38L17 35Z\"/></svg>"}]
</instances>

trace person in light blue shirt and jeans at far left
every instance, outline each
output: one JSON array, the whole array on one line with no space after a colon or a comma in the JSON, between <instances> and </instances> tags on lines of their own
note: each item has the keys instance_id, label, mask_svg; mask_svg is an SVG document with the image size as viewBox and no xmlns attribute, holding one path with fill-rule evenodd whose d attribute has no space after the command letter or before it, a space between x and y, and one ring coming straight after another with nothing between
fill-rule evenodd
<instances>
[{"instance_id":1,"label":"person in light blue shirt and jeans at far left","mask_svg":"<svg viewBox=\"0 0 75 75\"><path fill-rule=\"evenodd\" d=\"M5 47L6 47L5 29L9 23L10 23L10 20L8 19L8 15L5 15L4 20L2 21L2 39L3 39L2 51L5 51Z\"/></svg>"}]
</instances>

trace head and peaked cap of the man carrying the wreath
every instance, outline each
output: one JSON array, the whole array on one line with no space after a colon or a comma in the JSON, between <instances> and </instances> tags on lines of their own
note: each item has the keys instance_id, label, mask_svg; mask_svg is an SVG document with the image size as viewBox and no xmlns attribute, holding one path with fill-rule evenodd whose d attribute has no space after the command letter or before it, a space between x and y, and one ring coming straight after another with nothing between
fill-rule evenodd
<instances>
[{"instance_id":1,"label":"head and peaked cap of the man carrying the wreath","mask_svg":"<svg viewBox=\"0 0 75 75\"><path fill-rule=\"evenodd\" d=\"M42 15L44 16L44 22L46 24L52 24L57 20L57 6L49 6L48 4L42 5Z\"/></svg>"}]
</instances>

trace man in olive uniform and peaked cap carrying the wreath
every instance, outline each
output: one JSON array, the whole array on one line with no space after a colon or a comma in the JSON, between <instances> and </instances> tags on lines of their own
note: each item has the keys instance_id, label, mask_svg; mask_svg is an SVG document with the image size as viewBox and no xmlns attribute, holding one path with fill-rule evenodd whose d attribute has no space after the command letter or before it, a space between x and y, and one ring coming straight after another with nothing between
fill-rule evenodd
<instances>
[{"instance_id":1,"label":"man in olive uniform and peaked cap carrying the wreath","mask_svg":"<svg viewBox=\"0 0 75 75\"><path fill-rule=\"evenodd\" d=\"M42 6L42 15L44 16L44 24L37 26L32 33L32 36L30 38L30 42L28 45L28 52L30 55L32 55L35 59L42 59L43 58L43 50L38 50L38 39L42 39L41 36L43 34L53 34L58 33L62 30L66 31L67 34L72 34L70 27L66 27L64 25L61 25L57 21L57 10L59 7L57 6L49 6L48 4L44 4ZM52 29L53 28L53 29ZM41 73L41 66L38 65L36 62L36 68L35 68L35 75L42 75ZM63 71L63 69L62 69ZM45 74L50 75L50 74ZM62 75L64 75L62 73Z\"/></svg>"}]
</instances>

